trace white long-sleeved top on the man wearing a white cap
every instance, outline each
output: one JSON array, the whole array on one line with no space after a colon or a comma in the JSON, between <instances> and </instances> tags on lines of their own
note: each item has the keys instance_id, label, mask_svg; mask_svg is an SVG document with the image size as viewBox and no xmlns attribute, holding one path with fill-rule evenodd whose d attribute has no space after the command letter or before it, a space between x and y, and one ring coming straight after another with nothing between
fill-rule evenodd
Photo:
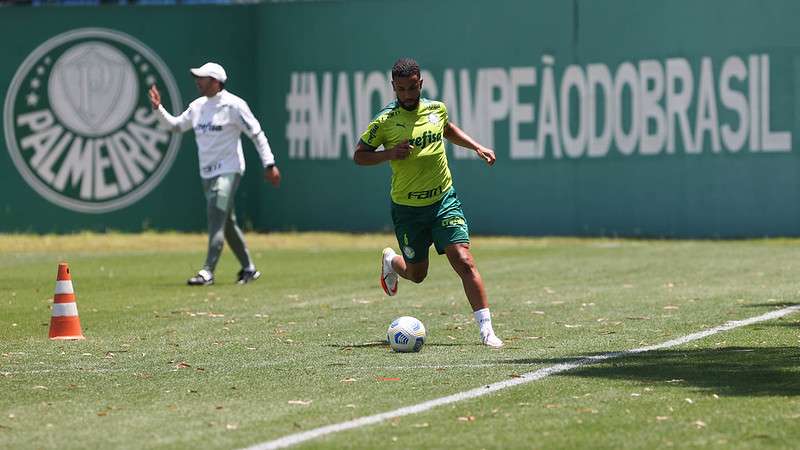
<instances>
[{"instance_id":1,"label":"white long-sleeved top on the man wearing a white cap","mask_svg":"<svg viewBox=\"0 0 800 450\"><path fill-rule=\"evenodd\" d=\"M167 112L163 105L158 112L159 122L173 131L194 129L203 178L244 173L241 133L253 141L264 167L275 164L267 136L247 102L226 90L213 97L198 98L178 117Z\"/></svg>"}]
</instances>

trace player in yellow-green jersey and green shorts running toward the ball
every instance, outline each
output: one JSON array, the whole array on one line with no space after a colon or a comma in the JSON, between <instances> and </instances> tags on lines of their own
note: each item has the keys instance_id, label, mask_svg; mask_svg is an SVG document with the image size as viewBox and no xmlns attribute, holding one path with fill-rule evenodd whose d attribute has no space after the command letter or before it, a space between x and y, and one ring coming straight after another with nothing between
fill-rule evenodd
<instances>
[{"instance_id":1,"label":"player in yellow-green jersey and green shorts running toward the ball","mask_svg":"<svg viewBox=\"0 0 800 450\"><path fill-rule=\"evenodd\" d=\"M488 165L494 151L472 139L448 120L444 103L421 98L419 65L401 58L392 67L392 87L397 100L387 105L361 135L353 160L362 166L389 161L392 166L392 221L402 256L383 250L381 286L387 295L397 293L398 276L421 283L428 275L428 249L446 254L461 277L481 341L503 346L492 329L489 300L472 253L469 230L461 202L456 197L442 138L471 148ZM376 151L383 146L383 151Z\"/></svg>"}]
</instances>

